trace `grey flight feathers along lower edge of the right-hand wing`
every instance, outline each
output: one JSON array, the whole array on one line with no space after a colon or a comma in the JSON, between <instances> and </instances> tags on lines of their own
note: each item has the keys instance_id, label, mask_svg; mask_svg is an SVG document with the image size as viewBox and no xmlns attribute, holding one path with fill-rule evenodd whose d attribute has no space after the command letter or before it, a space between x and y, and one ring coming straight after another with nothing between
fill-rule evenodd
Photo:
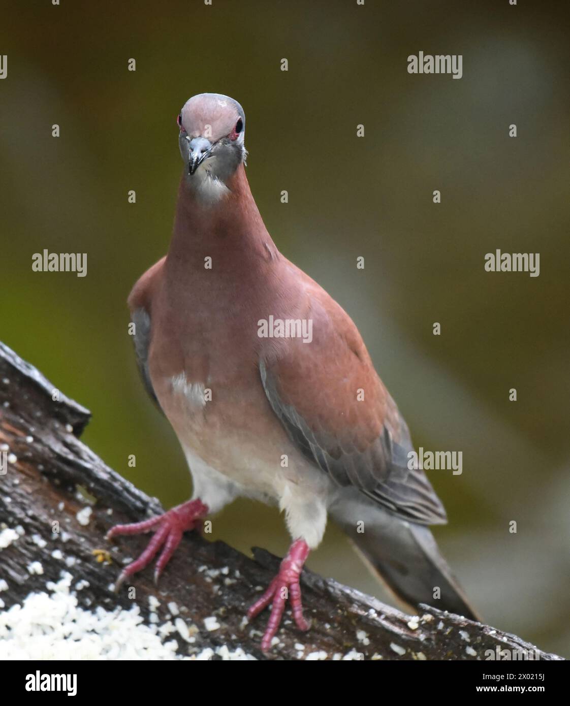
<instances>
[{"instance_id":1,"label":"grey flight feathers along lower edge of the right-hand wing","mask_svg":"<svg viewBox=\"0 0 570 706\"><path fill-rule=\"evenodd\" d=\"M424 472L408 469L413 451L410 432L400 416L400 441L386 424L379 438L364 452L343 449L324 431L313 431L295 407L280 400L275 379L261 362L261 382L268 401L299 450L340 486L354 486L394 515L421 525L447 522L444 506ZM399 413L398 413L399 414Z\"/></svg>"}]
</instances>

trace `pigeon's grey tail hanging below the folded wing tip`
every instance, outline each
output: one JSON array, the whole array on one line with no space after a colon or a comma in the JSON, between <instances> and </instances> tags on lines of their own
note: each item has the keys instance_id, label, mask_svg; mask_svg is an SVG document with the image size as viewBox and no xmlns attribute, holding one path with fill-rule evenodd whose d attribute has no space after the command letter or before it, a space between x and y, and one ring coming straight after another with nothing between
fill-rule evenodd
<instances>
[{"instance_id":1,"label":"pigeon's grey tail hanging below the folded wing tip","mask_svg":"<svg viewBox=\"0 0 570 706\"><path fill-rule=\"evenodd\" d=\"M365 505L331 508L367 565L381 582L410 606L427 603L470 620L480 620L451 573L432 532ZM350 520L349 520L350 518Z\"/></svg>"}]
</instances>

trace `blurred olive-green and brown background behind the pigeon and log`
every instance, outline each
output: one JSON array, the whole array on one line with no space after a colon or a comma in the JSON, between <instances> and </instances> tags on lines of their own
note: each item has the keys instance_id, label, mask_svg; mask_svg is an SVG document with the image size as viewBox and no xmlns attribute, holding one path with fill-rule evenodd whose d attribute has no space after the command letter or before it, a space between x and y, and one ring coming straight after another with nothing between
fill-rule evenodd
<instances>
[{"instance_id":1,"label":"blurred olive-green and brown background behind the pigeon and log","mask_svg":"<svg viewBox=\"0 0 570 706\"><path fill-rule=\"evenodd\" d=\"M174 433L138 381L125 300L168 247L180 107L203 91L235 97L276 244L354 318L415 444L463 451L461 476L431 478L450 519L436 536L473 604L570 657L561 11L507 0L5 2L1 339L92 410L84 439L109 465L165 505L189 496ZM463 54L463 78L410 76L420 50ZM87 277L32 273L44 248L88 253ZM540 277L486 273L497 248L540 252ZM278 511L249 501L214 530L244 551L283 554L289 542ZM335 527L309 566L386 598Z\"/></svg>"}]
</instances>

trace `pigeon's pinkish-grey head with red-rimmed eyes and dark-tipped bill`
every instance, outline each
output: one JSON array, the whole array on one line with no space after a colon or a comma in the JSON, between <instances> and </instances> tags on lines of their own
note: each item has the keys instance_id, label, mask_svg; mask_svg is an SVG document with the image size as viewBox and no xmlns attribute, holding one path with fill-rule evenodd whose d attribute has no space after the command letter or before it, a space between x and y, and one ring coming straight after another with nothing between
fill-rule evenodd
<instances>
[{"instance_id":1,"label":"pigeon's pinkish-grey head with red-rimmed eyes and dark-tipped bill","mask_svg":"<svg viewBox=\"0 0 570 706\"><path fill-rule=\"evenodd\" d=\"M200 93L186 101L177 123L186 178L200 189L217 183L221 192L246 155L242 106L227 95Z\"/></svg>"}]
</instances>

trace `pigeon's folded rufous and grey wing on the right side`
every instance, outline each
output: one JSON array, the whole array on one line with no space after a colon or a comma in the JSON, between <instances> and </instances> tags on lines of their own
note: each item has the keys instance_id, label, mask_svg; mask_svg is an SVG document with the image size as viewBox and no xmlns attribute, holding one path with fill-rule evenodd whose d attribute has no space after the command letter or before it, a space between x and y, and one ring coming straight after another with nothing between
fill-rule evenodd
<instances>
[{"instance_id":1,"label":"pigeon's folded rufous and grey wing on the right side","mask_svg":"<svg viewBox=\"0 0 570 706\"><path fill-rule=\"evenodd\" d=\"M302 453L340 486L355 486L404 519L443 524L445 510L423 470L408 469L408 426L355 324L320 287L311 291L307 315L311 342L287 339L261 360L273 412Z\"/></svg>"}]
</instances>

